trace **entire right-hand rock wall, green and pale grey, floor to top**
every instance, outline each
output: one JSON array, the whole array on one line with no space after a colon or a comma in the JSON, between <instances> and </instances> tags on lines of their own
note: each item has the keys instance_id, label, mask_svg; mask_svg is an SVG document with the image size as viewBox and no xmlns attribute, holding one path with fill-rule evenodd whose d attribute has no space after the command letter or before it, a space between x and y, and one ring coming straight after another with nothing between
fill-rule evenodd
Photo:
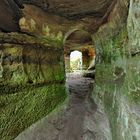
<instances>
[{"instance_id":1,"label":"entire right-hand rock wall, green and pale grey, floor to top","mask_svg":"<svg viewBox=\"0 0 140 140\"><path fill-rule=\"evenodd\" d=\"M109 22L93 36L98 57L93 97L108 116L112 140L140 137L140 36L134 16L140 7L138 1L130 1L129 9L128 4L118 1Z\"/></svg>"}]
</instances>

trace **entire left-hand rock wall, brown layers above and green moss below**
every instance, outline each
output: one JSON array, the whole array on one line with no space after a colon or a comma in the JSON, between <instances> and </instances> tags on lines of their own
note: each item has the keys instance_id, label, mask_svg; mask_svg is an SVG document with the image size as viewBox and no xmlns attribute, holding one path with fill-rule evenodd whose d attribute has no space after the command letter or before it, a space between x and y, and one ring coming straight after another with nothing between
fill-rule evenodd
<instances>
[{"instance_id":1,"label":"entire left-hand rock wall, brown layers above and green moss below","mask_svg":"<svg viewBox=\"0 0 140 140\"><path fill-rule=\"evenodd\" d=\"M1 140L12 140L66 98L62 46L46 40L0 34Z\"/></svg>"}]
</instances>

